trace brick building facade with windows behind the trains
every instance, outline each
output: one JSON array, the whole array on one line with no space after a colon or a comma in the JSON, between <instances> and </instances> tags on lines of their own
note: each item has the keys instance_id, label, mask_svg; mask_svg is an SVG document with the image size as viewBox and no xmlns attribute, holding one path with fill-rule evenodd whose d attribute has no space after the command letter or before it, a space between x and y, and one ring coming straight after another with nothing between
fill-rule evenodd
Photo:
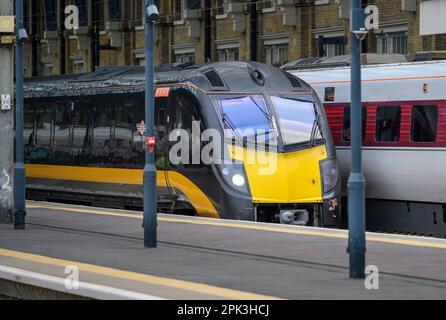
<instances>
[{"instance_id":1,"label":"brick building facade with windows behind the trains","mask_svg":"<svg viewBox=\"0 0 446 320\"><path fill-rule=\"evenodd\" d=\"M380 28L363 50L446 50L446 36L419 35L420 0L368 0ZM144 63L143 0L25 0L26 75L88 72L93 66ZM157 64L257 60L275 65L349 51L348 0L158 0ZM79 29L65 29L65 8Z\"/></svg>"}]
</instances>

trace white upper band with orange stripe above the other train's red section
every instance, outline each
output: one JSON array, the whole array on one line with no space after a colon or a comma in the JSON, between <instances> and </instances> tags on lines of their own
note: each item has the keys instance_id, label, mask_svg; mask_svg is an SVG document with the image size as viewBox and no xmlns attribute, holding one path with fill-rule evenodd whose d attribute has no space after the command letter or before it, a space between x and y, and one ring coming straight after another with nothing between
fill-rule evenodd
<instances>
[{"instance_id":1,"label":"white upper band with orange stripe above the other train's red section","mask_svg":"<svg viewBox=\"0 0 446 320\"><path fill-rule=\"evenodd\" d=\"M296 71L325 103L349 103L350 68ZM444 100L446 61L412 62L362 69L362 101L401 102ZM330 89L330 90L329 90Z\"/></svg>"}]
</instances>

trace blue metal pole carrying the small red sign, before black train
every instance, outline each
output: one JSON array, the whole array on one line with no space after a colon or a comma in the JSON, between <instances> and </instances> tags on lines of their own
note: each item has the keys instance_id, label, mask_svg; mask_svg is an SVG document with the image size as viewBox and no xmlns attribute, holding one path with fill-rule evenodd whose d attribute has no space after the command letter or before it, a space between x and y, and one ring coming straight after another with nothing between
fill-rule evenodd
<instances>
[{"instance_id":1,"label":"blue metal pole carrying the small red sign, before black train","mask_svg":"<svg viewBox=\"0 0 446 320\"><path fill-rule=\"evenodd\" d=\"M153 0L145 0L145 8L153 5ZM154 132L154 77L153 77L153 38L154 24L146 17L145 47L146 47L146 94L145 94L145 122L147 134L153 137ZM150 152L146 146L146 164L144 166L144 247L156 248L157 208L156 208L156 166L154 151Z\"/></svg>"}]
</instances>

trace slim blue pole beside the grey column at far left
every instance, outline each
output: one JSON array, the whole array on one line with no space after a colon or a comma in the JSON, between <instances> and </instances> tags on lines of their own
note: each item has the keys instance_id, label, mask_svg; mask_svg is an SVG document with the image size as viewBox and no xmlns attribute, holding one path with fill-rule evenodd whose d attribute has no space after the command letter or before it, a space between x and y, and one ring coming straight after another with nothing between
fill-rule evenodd
<instances>
[{"instance_id":1,"label":"slim blue pole beside the grey column at far left","mask_svg":"<svg viewBox=\"0 0 446 320\"><path fill-rule=\"evenodd\" d=\"M16 35L23 29L23 0L16 0ZM16 40L16 164L15 164L15 229L25 229L25 165L23 154L23 41Z\"/></svg>"}]
</instances>

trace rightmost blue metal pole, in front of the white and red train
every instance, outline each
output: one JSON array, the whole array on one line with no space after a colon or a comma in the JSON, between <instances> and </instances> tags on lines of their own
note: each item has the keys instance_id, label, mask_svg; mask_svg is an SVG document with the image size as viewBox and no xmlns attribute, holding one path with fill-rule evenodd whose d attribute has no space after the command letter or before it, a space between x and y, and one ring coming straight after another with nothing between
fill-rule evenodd
<instances>
[{"instance_id":1,"label":"rightmost blue metal pole, in front of the white and red train","mask_svg":"<svg viewBox=\"0 0 446 320\"><path fill-rule=\"evenodd\" d=\"M353 31L364 27L361 0L350 0L351 44L351 149L348 180L350 278L365 277L365 178L362 174L361 39Z\"/></svg>"}]
</instances>

